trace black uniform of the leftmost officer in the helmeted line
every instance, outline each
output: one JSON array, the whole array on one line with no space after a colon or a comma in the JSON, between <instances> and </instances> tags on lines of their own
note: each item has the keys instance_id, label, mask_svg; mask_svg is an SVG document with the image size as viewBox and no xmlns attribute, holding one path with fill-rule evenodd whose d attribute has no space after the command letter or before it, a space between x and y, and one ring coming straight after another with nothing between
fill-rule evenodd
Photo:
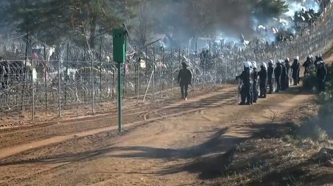
<instances>
[{"instance_id":1,"label":"black uniform of the leftmost officer in the helmeted line","mask_svg":"<svg viewBox=\"0 0 333 186\"><path fill-rule=\"evenodd\" d=\"M250 76L250 68L245 68L241 75L237 76L237 79L242 81L241 86L241 105L248 104L251 102L250 95L250 86L251 86L251 76Z\"/></svg>"}]
</instances>

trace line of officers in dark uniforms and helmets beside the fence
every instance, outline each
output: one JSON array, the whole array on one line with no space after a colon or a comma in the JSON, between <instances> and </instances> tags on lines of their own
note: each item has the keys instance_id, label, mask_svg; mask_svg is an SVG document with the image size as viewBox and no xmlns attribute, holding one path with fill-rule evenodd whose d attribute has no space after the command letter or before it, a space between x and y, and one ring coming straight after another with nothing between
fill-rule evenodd
<instances>
[{"instance_id":1,"label":"line of officers in dark uniforms and helmets beside the fence","mask_svg":"<svg viewBox=\"0 0 333 186\"><path fill-rule=\"evenodd\" d=\"M316 69L317 87L319 91L323 91L327 69L321 55L317 55L315 60L311 55L307 56L307 61L302 66L305 67L305 75L309 75L311 68ZM250 105L256 103L258 98L266 98L267 93L285 91L291 82L297 86L300 83L300 67L300 57L298 56L293 58L292 64L290 64L289 57L284 60L278 59L276 64L270 59L268 66L262 62L260 71L256 62L244 62L244 71L237 76L241 95L239 104Z\"/></svg>"}]
</instances>

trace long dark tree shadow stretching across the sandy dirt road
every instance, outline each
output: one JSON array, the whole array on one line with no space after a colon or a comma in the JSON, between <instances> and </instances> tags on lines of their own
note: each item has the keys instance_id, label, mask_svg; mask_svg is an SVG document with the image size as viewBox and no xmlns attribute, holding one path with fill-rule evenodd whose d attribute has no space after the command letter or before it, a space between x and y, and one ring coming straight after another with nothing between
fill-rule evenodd
<instances>
[{"instance_id":1,"label":"long dark tree shadow stretching across the sandy dirt road","mask_svg":"<svg viewBox=\"0 0 333 186\"><path fill-rule=\"evenodd\" d=\"M279 136L290 124L256 124L242 130L242 133L253 133L249 138L275 138ZM166 175L176 174L182 171L198 173L201 179L212 179L223 176L223 170L228 167L234 154L234 145L249 138L235 138L225 135L228 129L216 131L209 140L203 144L185 149L164 149L155 147L108 147L105 149L96 149L94 151L85 151L78 154L62 154L58 156L46 156L28 160L3 160L0 166L22 165L33 163L65 163L87 160L96 160L99 158L137 158L137 159L194 159L189 164L173 165L172 167L163 167L160 171L137 172L137 174ZM206 131L210 133L212 131ZM230 150L231 149L231 150ZM262 156L265 156L264 154ZM263 157L264 158L264 157Z\"/></svg>"}]
</instances>

